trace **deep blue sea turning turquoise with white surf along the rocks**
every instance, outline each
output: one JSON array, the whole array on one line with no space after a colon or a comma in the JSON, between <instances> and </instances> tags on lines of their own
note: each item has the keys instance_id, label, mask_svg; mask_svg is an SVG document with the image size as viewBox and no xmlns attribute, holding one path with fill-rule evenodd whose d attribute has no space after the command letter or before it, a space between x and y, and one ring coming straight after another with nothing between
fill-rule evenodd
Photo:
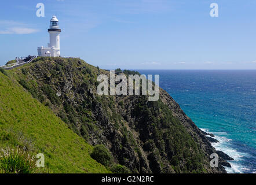
<instances>
[{"instance_id":1,"label":"deep blue sea turning turquoise with white surf along the rocks","mask_svg":"<svg viewBox=\"0 0 256 185\"><path fill-rule=\"evenodd\" d=\"M160 75L169 92L212 145L235 158L228 173L256 173L256 70L137 70Z\"/></svg>"}]
</instances>

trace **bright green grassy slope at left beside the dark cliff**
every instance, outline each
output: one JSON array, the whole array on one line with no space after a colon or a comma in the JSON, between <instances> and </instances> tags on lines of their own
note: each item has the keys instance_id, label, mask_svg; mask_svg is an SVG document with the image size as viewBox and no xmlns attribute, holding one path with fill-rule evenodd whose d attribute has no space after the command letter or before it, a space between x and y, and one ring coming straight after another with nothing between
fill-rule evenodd
<instances>
[{"instance_id":1,"label":"bright green grassy slope at left beside the dark cliff","mask_svg":"<svg viewBox=\"0 0 256 185\"><path fill-rule=\"evenodd\" d=\"M45 168L38 172L109 173L90 157L92 146L32 98L13 77L0 72L0 149L6 147L43 153Z\"/></svg>"}]
</instances>

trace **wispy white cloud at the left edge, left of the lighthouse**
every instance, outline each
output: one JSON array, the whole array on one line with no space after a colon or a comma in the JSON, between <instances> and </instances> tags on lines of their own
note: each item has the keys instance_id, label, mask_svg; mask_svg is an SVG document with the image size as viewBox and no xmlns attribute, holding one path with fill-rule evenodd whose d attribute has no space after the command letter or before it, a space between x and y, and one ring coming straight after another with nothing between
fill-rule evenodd
<instances>
[{"instance_id":1,"label":"wispy white cloud at the left edge, left of the lighthouse","mask_svg":"<svg viewBox=\"0 0 256 185\"><path fill-rule=\"evenodd\" d=\"M33 34L38 29L29 28L27 24L12 20L0 20L0 34Z\"/></svg>"}]
</instances>

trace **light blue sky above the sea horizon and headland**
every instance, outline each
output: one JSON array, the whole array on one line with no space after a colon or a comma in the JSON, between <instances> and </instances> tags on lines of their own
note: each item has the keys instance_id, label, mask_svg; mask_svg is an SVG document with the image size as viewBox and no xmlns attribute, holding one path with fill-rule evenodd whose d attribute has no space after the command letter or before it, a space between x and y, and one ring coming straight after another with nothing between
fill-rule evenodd
<instances>
[{"instance_id":1,"label":"light blue sky above the sea horizon and headland","mask_svg":"<svg viewBox=\"0 0 256 185\"><path fill-rule=\"evenodd\" d=\"M61 56L103 69L256 69L255 10L255 0L1 1L0 65L46 47L56 15Z\"/></svg>"}]
</instances>

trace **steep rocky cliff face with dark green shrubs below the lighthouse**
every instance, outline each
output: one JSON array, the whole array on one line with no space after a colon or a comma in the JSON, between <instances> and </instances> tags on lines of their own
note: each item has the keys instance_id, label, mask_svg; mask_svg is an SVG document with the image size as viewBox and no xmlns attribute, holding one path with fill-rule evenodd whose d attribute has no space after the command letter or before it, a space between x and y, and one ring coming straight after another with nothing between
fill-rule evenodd
<instances>
[{"instance_id":1,"label":"steep rocky cliff face with dark green shrubs below the lighthouse","mask_svg":"<svg viewBox=\"0 0 256 185\"><path fill-rule=\"evenodd\" d=\"M157 102L142 95L97 95L97 76L108 72L79 59L37 58L10 73L76 134L107 146L132 172L225 172L221 165L210 167L215 149L162 89Z\"/></svg>"}]
</instances>

